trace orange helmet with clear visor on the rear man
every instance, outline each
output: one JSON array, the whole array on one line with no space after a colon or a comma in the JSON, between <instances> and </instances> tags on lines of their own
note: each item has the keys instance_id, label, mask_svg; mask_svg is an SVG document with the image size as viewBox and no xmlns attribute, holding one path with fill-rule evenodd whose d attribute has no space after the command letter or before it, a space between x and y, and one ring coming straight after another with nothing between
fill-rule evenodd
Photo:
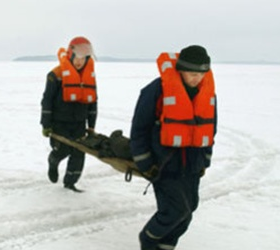
<instances>
[{"instance_id":1,"label":"orange helmet with clear visor on the rear man","mask_svg":"<svg viewBox=\"0 0 280 250\"><path fill-rule=\"evenodd\" d=\"M90 41L82 36L73 38L69 43L67 55L69 59L93 56L93 49Z\"/></svg>"}]
</instances>

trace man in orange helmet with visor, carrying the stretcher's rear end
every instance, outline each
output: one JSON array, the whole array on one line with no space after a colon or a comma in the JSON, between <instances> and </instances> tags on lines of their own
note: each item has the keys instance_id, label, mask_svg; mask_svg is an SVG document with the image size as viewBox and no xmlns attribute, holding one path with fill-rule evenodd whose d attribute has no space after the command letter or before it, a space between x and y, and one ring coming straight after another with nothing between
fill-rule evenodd
<instances>
[{"instance_id":1,"label":"man in orange helmet with visor, carrying the stretcher's rear end","mask_svg":"<svg viewBox=\"0 0 280 250\"><path fill-rule=\"evenodd\" d=\"M46 137L53 132L75 140L84 136L86 129L94 132L97 117L94 54L90 41L85 37L75 37L67 50L59 49L58 59L59 65L47 75L41 101L42 132ZM52 183L58 181L58 165L68 157L64 187L81 191L75 183L81 176L85 154L53 138L50 138L50 145L49 180Z\"/></svg>"}]
</instances>

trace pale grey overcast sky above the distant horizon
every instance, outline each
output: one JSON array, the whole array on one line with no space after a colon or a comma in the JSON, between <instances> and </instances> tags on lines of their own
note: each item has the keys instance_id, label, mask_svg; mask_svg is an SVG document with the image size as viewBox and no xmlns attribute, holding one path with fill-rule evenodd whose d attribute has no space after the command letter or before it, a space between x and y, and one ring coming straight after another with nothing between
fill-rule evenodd
<instances>
[{"instance_id":1,"label":"pale grey overcast sky above the distant horizon","mask_svg":"<svg viewBox=\"0 0 280 250\"><path fill-rule=\"evenodd\" d=\"M200 44L214 62L280 62L279 0L2 0L0 30L0 60L54 55L83 35L97 57Z\"/></svg>"}]
</instances>

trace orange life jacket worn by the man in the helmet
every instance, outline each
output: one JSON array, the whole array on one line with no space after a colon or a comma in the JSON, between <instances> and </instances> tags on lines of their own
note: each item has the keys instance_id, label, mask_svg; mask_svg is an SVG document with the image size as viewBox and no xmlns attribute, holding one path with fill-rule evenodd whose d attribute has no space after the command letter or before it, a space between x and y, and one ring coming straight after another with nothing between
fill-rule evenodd
<instances>
[{"instance_id":1,"label":"orange life jacket worn by the man in the helmet","mask_svg":"<svg viewBox=\"0 0 280 250\"><path fill-rule=\"evenodd\" d=\"M90 57L81 73L69 61L66 50L58 51L58 59L61 67L63 100L65 102L96 102L96 82L94 73L94 61Z\"/></svg>"}]
</instances>

